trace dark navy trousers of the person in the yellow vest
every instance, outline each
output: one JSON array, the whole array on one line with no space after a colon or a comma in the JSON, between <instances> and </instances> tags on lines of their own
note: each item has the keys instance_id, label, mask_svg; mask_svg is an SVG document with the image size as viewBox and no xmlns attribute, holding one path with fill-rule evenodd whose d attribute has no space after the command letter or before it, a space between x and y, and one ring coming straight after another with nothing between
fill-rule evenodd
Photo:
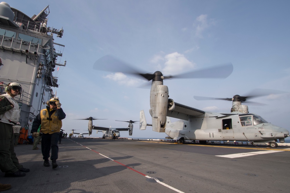
<instances>
[{"instance_id":1,"label":"dark navy trousers of the person in the yellow vest","mask_svg":"<svg viewBox=\"0 0 290 193\"><path fill-rule=\"evenodd\" d=\"M41 152L44 160L48 160L51 148L50 160L57 160L58 158L58 146L59 132L53 134L41 135Z\"/></svg>"}]
</instances>

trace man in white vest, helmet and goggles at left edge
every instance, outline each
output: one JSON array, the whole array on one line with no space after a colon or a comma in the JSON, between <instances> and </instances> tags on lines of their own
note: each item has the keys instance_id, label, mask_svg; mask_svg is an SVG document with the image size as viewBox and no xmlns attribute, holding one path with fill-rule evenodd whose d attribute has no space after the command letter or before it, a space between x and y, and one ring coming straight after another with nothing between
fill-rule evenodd
<instances>
[{"instance_id":1,"label":"man in white vest, helmet and goggles at left edge","mask_svg":"<svg viewBox=\"0 0 290 193\"><path fill-rule=\"evenodd\" d=\"M10 82L5 87L6 94L0 95L0 169L5 177L22 177L30 169L23 168L14 152L13 125L20 118L20 108L14 97L19 95L22 87L17 82Z\"/></svg>"}]
</instances>

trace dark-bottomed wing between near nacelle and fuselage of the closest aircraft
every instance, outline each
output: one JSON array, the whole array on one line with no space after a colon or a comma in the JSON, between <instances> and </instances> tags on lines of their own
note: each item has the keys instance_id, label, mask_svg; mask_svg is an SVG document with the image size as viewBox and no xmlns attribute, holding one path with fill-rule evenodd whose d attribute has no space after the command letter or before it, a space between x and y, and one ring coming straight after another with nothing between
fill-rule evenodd
<instances>
[{"instance_id":1,"label":"dark-bottomed wing between near nacelle and fuselage of the closest aircraft","mask_svg":"<svg viewBox=\"0 0 290 193\"><path fill-rule=\"evenodd\" d=\"M175 103L175 108L173 111L168 111L167 110L167 116L168 117L173 117L177 119L182 119L182 120L189 120L189 118L193 118L196 116L201 116L205 114L204 111L195 109L193 107L188 107L183 104Z\"/></svg>"}]
</instances>

